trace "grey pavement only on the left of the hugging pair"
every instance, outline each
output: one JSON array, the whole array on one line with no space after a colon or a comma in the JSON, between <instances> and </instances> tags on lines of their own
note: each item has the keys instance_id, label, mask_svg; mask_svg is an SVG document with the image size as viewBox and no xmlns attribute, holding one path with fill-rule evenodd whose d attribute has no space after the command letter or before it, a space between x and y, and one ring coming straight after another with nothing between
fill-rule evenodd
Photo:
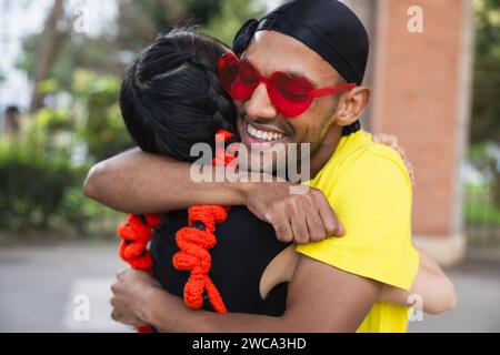
<instances>
[{"instance_id":1,"label":"grey pavement only on the left of the hugging pair","mask_svg":"<svg viewBox=\"0 0 500 355\"><path fill-rule=\"evenodd\" d=\"M109 316L117 247L0 248L0 332L128 332Z\"/></svg>"}]
</instances>

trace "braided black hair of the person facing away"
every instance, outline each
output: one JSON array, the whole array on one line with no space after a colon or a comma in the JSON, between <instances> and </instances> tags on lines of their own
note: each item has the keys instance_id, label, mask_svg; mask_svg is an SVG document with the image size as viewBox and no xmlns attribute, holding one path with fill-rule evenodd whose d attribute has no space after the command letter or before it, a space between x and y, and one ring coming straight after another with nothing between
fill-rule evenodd
<instances>
[{"instance_id":1,"label":"braided black hair of the person facing away","mask_svg":"<svg viewBox=\"0 0 500 355\"><path fill-rule=\"evenodd\" d=\"M146 152L194 161L191 146L214 146L219 129L236 134L236 109L217 77L227 51L192 28L158 37L127 70L120 110L136 143Z\"/></svg>"}]
</instances>

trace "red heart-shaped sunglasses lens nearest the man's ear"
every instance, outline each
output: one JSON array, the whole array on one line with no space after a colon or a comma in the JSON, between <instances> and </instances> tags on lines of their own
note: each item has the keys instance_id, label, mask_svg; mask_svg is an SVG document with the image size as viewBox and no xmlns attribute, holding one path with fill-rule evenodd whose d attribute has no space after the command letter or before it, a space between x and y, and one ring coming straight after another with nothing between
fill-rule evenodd
<instances>
[{"instance_id":1,"label":"red heart-shaped sunglasses lens nearest the man's ear","mask_svg":"<svg viewBox=\"0 0 500 355\"><path fill-rule=\"evenodd\" d=\"M269 97L278 111L287 118L294 118L311 105L312 90L312 84L303 77L276 72L270 79Z\"/></svg>"}]
</instances>

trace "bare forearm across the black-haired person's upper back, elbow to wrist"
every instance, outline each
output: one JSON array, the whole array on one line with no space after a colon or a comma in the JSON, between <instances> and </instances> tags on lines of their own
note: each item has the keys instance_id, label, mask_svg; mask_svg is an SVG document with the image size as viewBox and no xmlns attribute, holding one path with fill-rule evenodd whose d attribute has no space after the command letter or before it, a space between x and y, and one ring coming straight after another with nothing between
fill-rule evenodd
<instances>
[{"instance_id":1,"label":"bare forearm across the black-haired person's upper back, elbow to wrist","mask_svg":"<svg viewBox=\"0 0 500 355\"><path fill-rule=\"evenodd\" d=\"M127 213L164 212L196 204L244 204L247 183L194 182L190 166L134 149L94 165L84 191L89 197Z\"/></svg>"}]
</instances>

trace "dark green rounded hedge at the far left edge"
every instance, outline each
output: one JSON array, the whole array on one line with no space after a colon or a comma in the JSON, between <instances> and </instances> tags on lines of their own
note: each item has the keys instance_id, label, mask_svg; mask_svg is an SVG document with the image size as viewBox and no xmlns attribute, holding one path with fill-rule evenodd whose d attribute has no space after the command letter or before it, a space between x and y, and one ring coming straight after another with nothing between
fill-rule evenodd
<instances>
[{"instance_id":1,"label":"dark green rounded hedge at the far left edge","mask_svg":"<svg viewBox=\"0 0 500 355\"><path fill-rule=\"evenodd\" d=\"M44 229L74 174L63 154L49 155L46 140L0 141L0 229Z\"/></svg>"}]
</instances>

